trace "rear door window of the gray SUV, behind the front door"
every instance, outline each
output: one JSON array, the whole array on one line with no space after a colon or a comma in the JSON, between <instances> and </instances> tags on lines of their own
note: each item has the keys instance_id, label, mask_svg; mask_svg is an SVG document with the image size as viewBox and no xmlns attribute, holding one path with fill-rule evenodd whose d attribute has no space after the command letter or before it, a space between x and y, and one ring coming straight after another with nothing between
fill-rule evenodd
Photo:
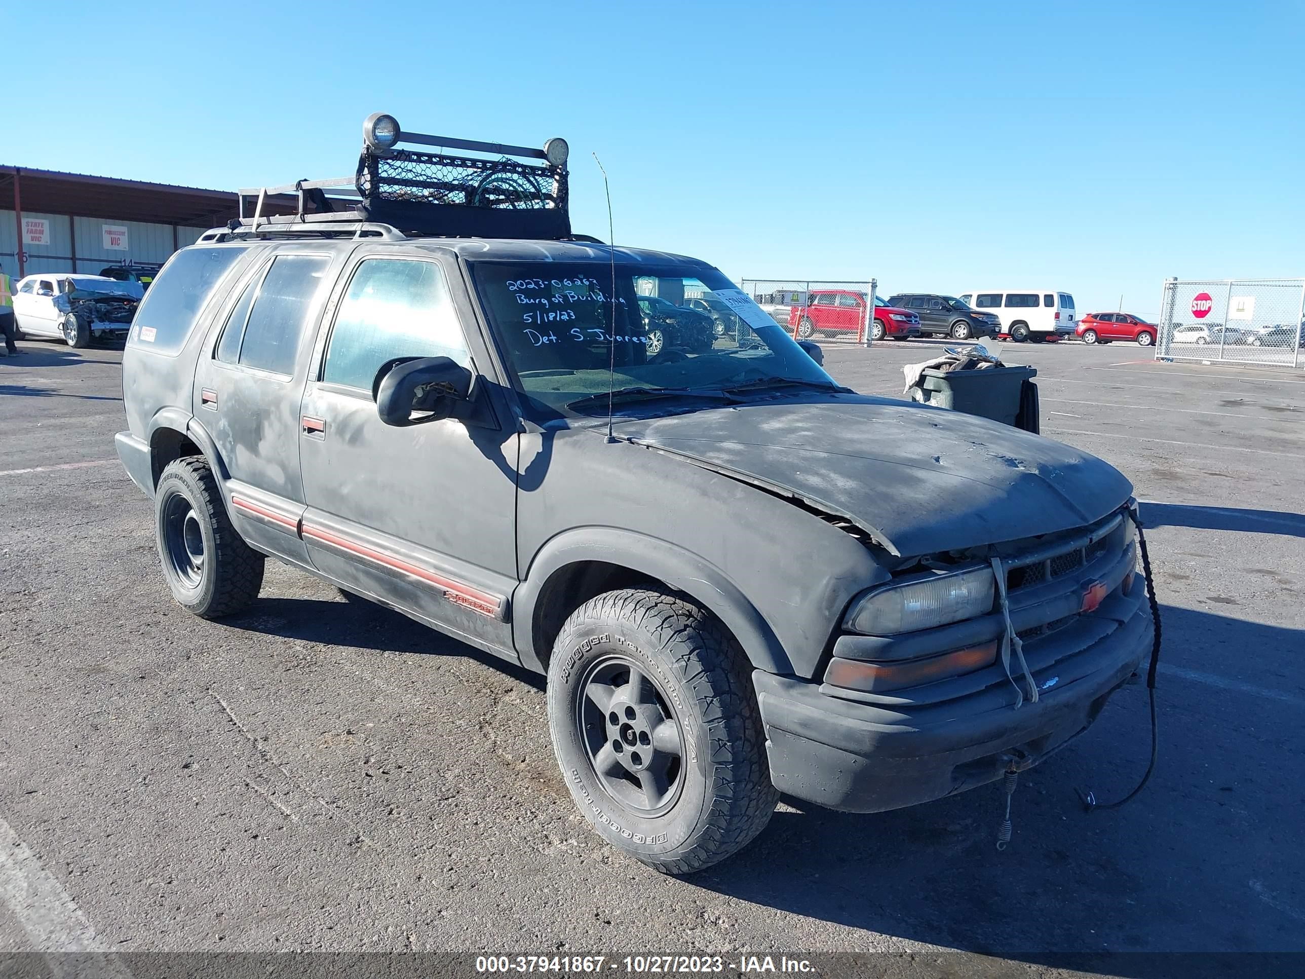
<instances>
[{"instance_id":1,"label":"rear door window of the gray SUV, behind the front door","mask_svg":"<svg viewBox=\"0 0 1305 979\"><path fill-rule=\"evenodd\" d=\"M324 255L279 255L258 285L253 302L247 295L232 311L227 333L241 330L240 355L236 363L284 376L294 375L295 358L304 325L316 309L313 302L321 287L330 258ZM248 294L249 290L247 288ZM238 319L240 307L248 308L244 324ZM223 333L218 343L219 359L232 352L235 341Z\"/></svg>"}]
</instances>

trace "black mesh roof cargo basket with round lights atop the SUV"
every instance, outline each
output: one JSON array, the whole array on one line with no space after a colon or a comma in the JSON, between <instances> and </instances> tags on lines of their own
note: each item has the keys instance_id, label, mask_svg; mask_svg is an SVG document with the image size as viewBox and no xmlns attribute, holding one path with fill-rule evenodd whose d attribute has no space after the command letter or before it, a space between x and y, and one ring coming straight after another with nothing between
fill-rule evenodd
<instances>
[{"instance_id":1,"label":"black mesh roof cargo basket with round lights atop the SUV","mask_svg":"<svg viewBox=\"0 0 1305 979\"><path fill-rule=\"evenodd\" d=\"M561 138L536 150L428 136L405 132L394 116L376 112L363 124L363 153L354 176L241 189L240 217L228 230L232 235L348 234L351 223L365 223L369 227L358 227L355 234L376 234L376 226L385 225L414 236L566 239L572 236L566 155ZM251 204L252 213L247 211Z\"/></svg>"}]
</instances>

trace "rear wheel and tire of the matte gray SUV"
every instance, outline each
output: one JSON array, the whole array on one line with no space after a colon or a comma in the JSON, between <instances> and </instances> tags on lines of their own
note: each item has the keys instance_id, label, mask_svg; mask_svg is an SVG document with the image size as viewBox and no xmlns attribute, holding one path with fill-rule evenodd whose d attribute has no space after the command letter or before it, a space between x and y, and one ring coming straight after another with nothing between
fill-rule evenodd
<instances>
[{"instance_id":1,"label":"rear wheel and tire of the matte gray SUV","mask_svg":"<svg viewBox=\"0 0 1305 979\"><path fill-rule=\"evenodd\" d=\"M159 561L177 604L201 619L218 619L258 597L264 556L231 525L205 459L170 462L154 500Z\"/></svg>"}]
</instances>

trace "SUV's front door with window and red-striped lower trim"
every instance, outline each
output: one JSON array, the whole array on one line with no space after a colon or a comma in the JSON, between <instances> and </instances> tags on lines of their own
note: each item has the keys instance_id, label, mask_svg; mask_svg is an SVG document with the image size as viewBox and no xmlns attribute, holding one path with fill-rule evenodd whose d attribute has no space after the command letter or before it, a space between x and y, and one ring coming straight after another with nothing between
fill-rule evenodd
<instances>
[{"instance_id":1,"label":"SUV's front door with window and red-striped lower trim","mask_svg":"<svg viewBox=\"0 0 1305 979\"><path fill-rule=\"evenodd\" d=\"M324 316L300 406L308 555L347 590L515 662L517 427L483 376L493 368L459 270L416 249L364 249L355 262ZM474 375L484 365L472 384L484 410L385 424L372 384L401 356L448 356Z\"/></svg>"}]
</instances>

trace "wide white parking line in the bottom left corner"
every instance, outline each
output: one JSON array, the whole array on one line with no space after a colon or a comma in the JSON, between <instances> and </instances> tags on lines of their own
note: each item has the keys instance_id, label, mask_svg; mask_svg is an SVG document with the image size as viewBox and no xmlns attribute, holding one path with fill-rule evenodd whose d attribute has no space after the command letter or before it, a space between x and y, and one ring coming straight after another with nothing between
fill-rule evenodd
<instances>
[{"instance_id":1,"label":"wide white parking line in the bottom left corner","mask_svg":"<svg viewBox=\"0 0 1305 979\"><path fill-rule=\"evenodd\" d=\"M90 971L85 962L57 953L107 953L77 902L68 897L68 892L4 820L0 820L0 901L27 932L33 946L46 954L50 971L57 979L85 976ZM132 976L112 954L97 956L95 966L95 975L108 979Z\"/></svg>"}]
</instances>

